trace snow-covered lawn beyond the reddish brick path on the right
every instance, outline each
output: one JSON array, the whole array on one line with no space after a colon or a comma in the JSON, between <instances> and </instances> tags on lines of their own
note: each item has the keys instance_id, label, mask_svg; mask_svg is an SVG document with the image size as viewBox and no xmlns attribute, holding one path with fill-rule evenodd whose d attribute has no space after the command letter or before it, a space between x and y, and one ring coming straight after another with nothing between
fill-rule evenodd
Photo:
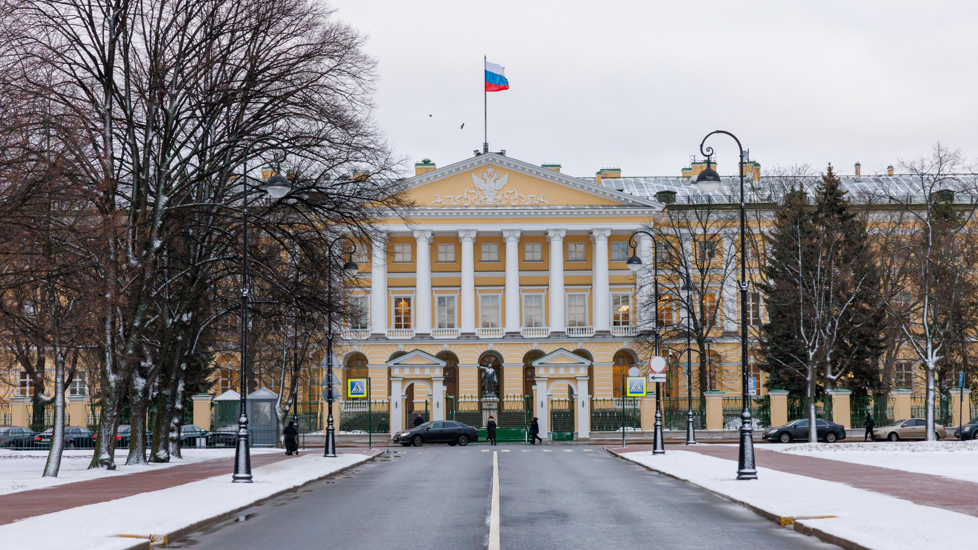
<instances>
[{"instance_id":1,"label":"snow-covered lawn beyond the reddish brick path on the right","mask_svg":"<svg viewBox=\"0 0 978 550\"><path fill-rule=\"evenodd\" d=\"M778 452L978 482L978 441L885 441L765 445ZM978 547L978 541L976 541Z\"/></svg>"}]
</instances>

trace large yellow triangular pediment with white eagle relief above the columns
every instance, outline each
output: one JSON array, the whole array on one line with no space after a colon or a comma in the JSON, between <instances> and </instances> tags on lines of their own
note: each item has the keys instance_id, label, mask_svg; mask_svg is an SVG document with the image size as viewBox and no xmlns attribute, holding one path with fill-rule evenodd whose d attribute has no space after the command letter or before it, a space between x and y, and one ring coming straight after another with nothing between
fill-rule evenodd
<instances>
[{"instance_id":1,"label":"large yellow triangular pediment with white eagle relief above the columns","mask_svg":"<svg viewBox=\"0 0 978 550\"><path fill-rule=\"evenodd\" d=\"M662 206L495 153L417 175L408 196L421 207Z\"/></svg>"}]
</instances>

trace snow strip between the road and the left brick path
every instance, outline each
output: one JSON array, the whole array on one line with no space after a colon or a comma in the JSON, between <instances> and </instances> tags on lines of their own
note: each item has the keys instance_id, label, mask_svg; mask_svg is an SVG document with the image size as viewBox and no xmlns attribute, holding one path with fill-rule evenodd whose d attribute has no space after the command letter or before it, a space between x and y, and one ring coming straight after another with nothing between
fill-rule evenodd
<instances>
[{"instance_id":1,"label":"snow strip between the road and the left brick path","mask_svg":"<svg viewBox=\"0 0 978 550\"><path fill-rule=\"evenodd\" d=\"M232 483L229 474L71 508L0 526L0 540L4 548L31 550L63 550L66 544L71 550L128 548L139 540L117 535L148 537L189 527L328 476L365 458L367 455L345 453L336 458L316 453L301 455L255 468L253 483Z\"/></svg>"}]
</instances>

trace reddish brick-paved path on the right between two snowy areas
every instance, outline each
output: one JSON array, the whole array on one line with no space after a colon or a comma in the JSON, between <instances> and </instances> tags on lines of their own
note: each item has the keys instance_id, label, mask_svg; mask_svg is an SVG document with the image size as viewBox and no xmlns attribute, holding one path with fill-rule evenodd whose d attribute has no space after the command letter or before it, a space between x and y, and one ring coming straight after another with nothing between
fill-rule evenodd
<instances>
[{"instance_id":1,"label":"reddish brick-paved path on the right between two snowy areas","mask_svg":"<svg viewBox=\"0 0 978 550\"><path fill-rule=\"evenodd\" d=\"M666 445L666 451L668 452L670 449L698 452L733 460L734 463L737 460L736 446L708 443ZM650 451L652 447L651 445L634 445L625 448L614 447L614 450L617 452ZM978 483L972 481L952 480L878 466L865 466L840 460L782 453L761 448L759 445L755 445L754 455L758 467L818 480L838 481L853 487L909 500L922 506L944 508L945 510L978 517L978 498L975 498L975 495L978 494Z\"/></svg>"}]
</instances>

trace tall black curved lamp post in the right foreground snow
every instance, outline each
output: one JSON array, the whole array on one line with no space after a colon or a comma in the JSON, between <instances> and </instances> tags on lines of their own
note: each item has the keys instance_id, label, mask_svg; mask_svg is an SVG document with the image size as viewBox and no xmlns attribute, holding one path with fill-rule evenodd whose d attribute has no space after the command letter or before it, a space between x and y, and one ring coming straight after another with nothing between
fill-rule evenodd
<instances>
[{"instance_id":1,"label":"tall black curved lamp post in the right foreground snow","mask_svg":"<svg viewBox=\"0 0 978 550\"><path fill-rule=\"evenodd\" d=\"M740 150L740 390L741 404L740 409L740 447L737 454L737 480L756 480L757 468L754 466L754 434L751 430L750 419L750 396L747 394L747 259L746 259L746 221L743 205L743 147L740 140L726 130L715 130L706 134L703 141L699 144L699 152L706 157L706 169L699 172L696 176L696 185L703 193L713 193L720 187L720 174L710 168L710 158L713 156L713 148L703 149L706 140L713 134L727 134L736 142Z\"/></svg>"}]
</instances>

